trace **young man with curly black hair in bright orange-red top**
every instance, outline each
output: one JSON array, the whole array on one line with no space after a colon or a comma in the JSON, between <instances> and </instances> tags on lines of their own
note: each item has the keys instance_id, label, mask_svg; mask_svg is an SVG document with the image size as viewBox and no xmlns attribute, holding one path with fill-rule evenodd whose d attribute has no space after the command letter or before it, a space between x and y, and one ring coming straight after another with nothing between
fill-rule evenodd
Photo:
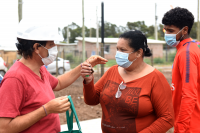
<instances>
[{"instance_id":1,"label":"young man with curly black hair in bright orange-red top","mask_svg":"<svg viewBox=\"0 0 200 133\"><path fill-rule=\"evenodd\" d=\"M171 87L174 133L199 133L200 51L189 36L194 16L187 9L176 7L165 13L162 23L166 43L177 49Z\"/></svg>"}]
</instances>

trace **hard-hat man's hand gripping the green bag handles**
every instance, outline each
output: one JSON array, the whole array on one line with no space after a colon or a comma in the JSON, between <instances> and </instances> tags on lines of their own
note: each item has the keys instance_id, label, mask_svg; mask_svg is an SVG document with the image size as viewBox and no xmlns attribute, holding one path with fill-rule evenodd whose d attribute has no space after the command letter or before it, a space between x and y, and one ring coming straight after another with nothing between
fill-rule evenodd
<instances>
[{"instance_id":1,"label":"hard-hat man's hand gripping the green bag handles","mask_svg":"<svg viewBox=\"0 0 200 133\"><path fill-rule=\"evenodd\" d=\"M47 114L66 112L71 106L66 96L55 98L44 105Z\"/></svg>"}]
</instances>

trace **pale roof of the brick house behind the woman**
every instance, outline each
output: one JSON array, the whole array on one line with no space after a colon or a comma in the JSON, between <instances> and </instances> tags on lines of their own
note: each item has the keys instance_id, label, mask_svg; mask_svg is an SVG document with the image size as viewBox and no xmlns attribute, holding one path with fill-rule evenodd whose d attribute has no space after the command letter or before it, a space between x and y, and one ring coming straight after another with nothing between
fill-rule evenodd
<instances>
[{"instance_id":1,"label":"pale roof of the brick house behind the woman","mask_svg":"<svg viewBox=\"0 0 200 133\"><path fill-rule=\"evenodd\" d=\"M76 40L82 41L82 37L76 37ZM119 38L104 38L105 43L117 43ZM85 37L85 42L96 43L97 38L95 37ZM98 42L101 43L101 38L98 39ZM165 41L147 39L148 44L164 44Z\"/></svg>"}]
</instances>

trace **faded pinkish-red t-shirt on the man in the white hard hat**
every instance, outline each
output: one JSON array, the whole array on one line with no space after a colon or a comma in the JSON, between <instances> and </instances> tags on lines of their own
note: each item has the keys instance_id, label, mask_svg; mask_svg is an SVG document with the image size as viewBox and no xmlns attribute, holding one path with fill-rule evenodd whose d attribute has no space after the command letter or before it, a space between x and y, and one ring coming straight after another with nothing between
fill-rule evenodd
<instances>
[{"instance_id":1,"label":"faded pinkish-red t-shirt on the man in the white hard hat","mask_svg":"<svg viewBox=\"0 0 200 133\"><path fill-rule=\"evenodd\" d=\"M23 63L16 61L4 76L0 87L0 117L15 118L32 112L54 99L53 90L58 79L44 66L42 79ZM21 133L58 133L58 114L49 114Z\"/></svg>"}]
</instances>

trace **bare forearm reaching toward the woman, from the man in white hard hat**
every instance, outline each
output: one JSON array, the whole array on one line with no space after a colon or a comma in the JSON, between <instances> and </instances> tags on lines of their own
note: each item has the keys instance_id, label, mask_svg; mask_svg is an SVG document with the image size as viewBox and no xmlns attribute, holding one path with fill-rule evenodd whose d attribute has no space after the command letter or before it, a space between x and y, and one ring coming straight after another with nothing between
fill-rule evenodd
<instances>
[{"instance_id":1,"label":"bare forearm reaching toward the woman, from the man in white hard hat","mask_svg":"<svg viewBox=\"0 0 200 133\"><path fill-rule=\"evenodd\" d=\"M58 77L58 85L54 89L54 91L62 90L68 86L70 86L76 79L80 77L81 74L81 65L78 65L76 68L71 71L61 75Z\"/></svg>"}]
</instances>

